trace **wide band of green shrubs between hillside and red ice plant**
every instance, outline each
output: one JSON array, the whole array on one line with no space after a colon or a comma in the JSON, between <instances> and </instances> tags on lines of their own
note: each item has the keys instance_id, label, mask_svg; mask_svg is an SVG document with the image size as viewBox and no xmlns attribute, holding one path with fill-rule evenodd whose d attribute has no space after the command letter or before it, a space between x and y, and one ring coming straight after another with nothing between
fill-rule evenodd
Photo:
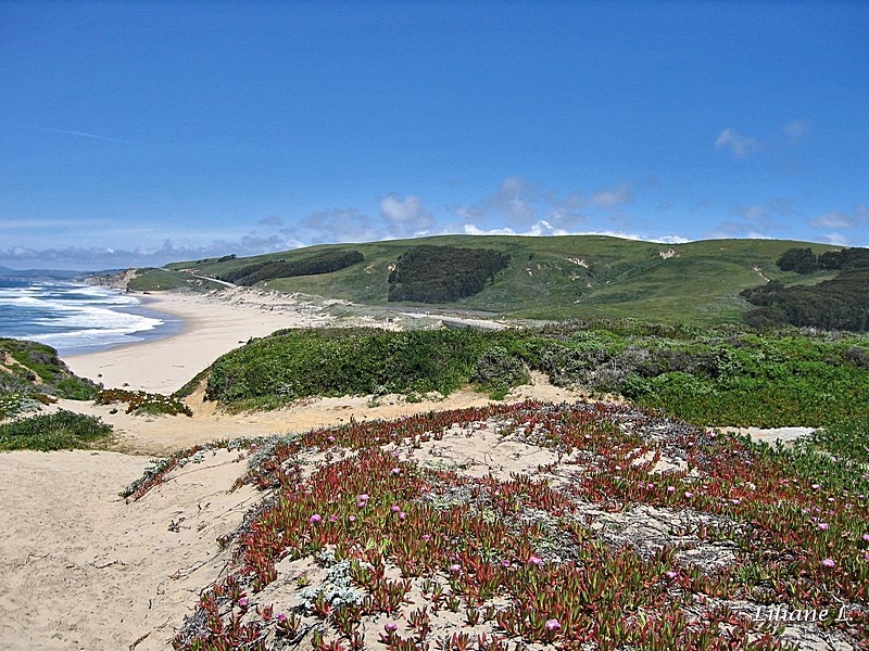
<instances>
[{"instance_id":1,"label":"wide band of green shrubs between hillside and red ice plant","mask_svg":"<svg viewBox=\"0 0 869 651\"><path fill-rule=\"evenodd\" d=\"M217 359L205 396L274 408L306 396L418 394L528 371L702 425L821 426L866 412L869 340L797 330L565 322L527 330L284 330Z\"/></svg>"}]
</instances>

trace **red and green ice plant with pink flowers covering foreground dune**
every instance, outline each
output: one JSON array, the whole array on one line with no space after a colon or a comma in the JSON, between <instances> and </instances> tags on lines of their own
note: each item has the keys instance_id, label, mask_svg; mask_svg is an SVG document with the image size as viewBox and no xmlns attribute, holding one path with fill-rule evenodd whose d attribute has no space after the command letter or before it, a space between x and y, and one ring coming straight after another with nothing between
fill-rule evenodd
<instances>
[{"instance_id":1,"label":"red and green ice plant with pink flowers covering foreground dune","mask_svg":"<svg viewBox=\"0 0 869 651\"><path fill-rule=\"evenodd\" d=\"M860 432L830 458L843 432L784 454L629 406L524 403L248 442L238 485L272 497L221 539L232 570L174 647L859 646ZM471 437L551 462L481 475ZM154 469L131 499L200 454ZM801 622L758 616L782 611Z\"/></svg>"}]
</instances>

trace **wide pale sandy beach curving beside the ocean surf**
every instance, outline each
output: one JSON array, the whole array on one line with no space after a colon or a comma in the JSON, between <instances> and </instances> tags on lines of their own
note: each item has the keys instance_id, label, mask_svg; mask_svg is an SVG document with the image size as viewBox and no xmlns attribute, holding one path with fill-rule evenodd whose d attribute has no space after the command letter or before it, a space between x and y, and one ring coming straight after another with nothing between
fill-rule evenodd
<instances>
[{"instance_id":1,"label":"wide pale sandy beach curving beside the ocean surf","mask_svg":"<svg viewBox=\"0 0 869 651\"><path fill-rule=\"evenodd\" d=\"M70 369L105 387L169 394L222 355L282 328L323 326L331 318L292 303L276 306L252 292L136 295L141 307L181 319L180 331L91 353L61 355ZM278 307L278 309L276 309Z\"/></svg>"}]
</instances>

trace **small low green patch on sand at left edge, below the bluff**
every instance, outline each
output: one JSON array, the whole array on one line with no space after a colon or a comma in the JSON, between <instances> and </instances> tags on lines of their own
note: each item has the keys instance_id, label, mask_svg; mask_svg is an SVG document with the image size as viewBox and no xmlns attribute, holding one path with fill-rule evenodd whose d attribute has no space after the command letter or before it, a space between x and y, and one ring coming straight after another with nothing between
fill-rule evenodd
<instances>
[{"instance_id":1,"label":"small low green patch on sand at left edge, below the bluff","mask_svg":"<svg viewBox=\"0 0 869 651\"><path fill-rule=\"evenodd\" d=\"M106 441L112 427L100 419L61 409L0 424L0 450L71 450Z\"/></svg>"}]
</instances>

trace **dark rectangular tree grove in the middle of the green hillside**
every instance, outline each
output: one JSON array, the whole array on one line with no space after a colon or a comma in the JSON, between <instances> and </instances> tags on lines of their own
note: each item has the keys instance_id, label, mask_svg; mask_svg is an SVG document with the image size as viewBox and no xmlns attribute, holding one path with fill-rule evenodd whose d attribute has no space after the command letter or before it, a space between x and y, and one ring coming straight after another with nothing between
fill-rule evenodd
<instances>
[{"instance_id":1,"label":"dark rectangular tree grove in the middle of the green hillside","mask_svg":"<svg viewBox=\"0 0 869 651\"><path fill-rule=\"evenodd\" d=\"M482 291L508 264L507 254L488 248L416 246L389 275L389 301L452 303Z\"/></svg>"}]
</instances>

